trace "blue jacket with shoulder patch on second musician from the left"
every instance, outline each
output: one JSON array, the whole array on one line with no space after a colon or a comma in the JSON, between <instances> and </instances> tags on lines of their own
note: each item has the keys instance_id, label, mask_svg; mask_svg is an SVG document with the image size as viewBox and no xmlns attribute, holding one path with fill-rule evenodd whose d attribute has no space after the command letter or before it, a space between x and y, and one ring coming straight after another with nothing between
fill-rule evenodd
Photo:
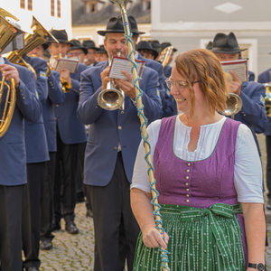
<instances>
[{"instance_id":1,"label":"blue jacket with shoulder patch on second musician from the left","mask_svg":"<svg viewBox=\"0 0 271 271\"><path fill-rule=\"evenodd\" d=\"M45 103L48 96L47 86L47 62L37 57L23 56L23 60L29 63L36 71L36 90L41 104ZM43 117L35 123L24 120L26 163L41 163L50 160Z\"/></svg>"}]
</instances>

